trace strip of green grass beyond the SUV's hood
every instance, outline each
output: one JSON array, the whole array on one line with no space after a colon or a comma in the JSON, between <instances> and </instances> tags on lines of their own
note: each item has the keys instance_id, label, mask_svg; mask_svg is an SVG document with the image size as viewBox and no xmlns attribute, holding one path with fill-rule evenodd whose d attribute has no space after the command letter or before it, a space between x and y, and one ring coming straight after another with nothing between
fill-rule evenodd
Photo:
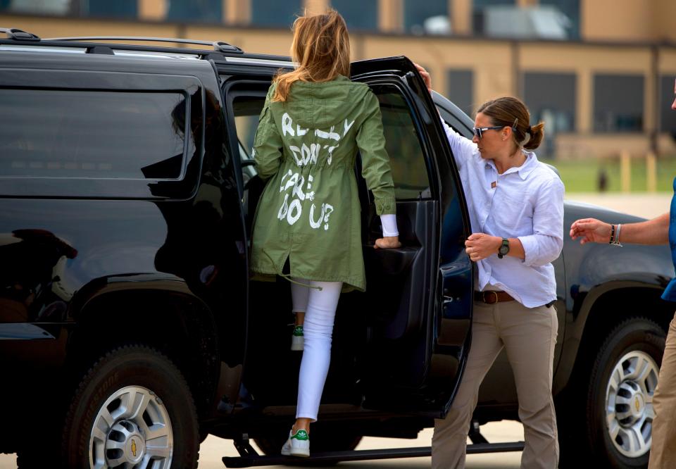
<instances>
[{"instance_id":1,"label":"strip of green grass beyond the SUV's hood","mask_svg":"<svg viewBox=\"0 0 676 469\"><path fill-rule=\"evenodd\" d=\"M606 171L608 185L606 192L620 192L619 158L587 158L584 160L542 160L556 167L565 192L598 192L598 180L601 169ZM676 177L676 155L663 156L657 161L657 192L672 192L672 183ZM646 192L646 160L632 158L631 163L632 192Z\"/></svg>"}]
</instances>

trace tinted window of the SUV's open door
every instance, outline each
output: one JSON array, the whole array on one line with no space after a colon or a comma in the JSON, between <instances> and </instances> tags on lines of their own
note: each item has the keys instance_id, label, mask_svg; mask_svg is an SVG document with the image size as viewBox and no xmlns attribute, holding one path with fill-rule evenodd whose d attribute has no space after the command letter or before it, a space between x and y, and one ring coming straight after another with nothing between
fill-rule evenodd
<instances>
[{"instance_id":1,"label":"tinted window of the SUV's open door","mask_svg":"<svg viewBox=\"0 0 676 469\"><path fill-rule=\"evenodd\" d=\"M425 156L408 103L395 87L378 87L374 91L380 101L396 199L429 199Z\"/></svg>"}]
</instances>

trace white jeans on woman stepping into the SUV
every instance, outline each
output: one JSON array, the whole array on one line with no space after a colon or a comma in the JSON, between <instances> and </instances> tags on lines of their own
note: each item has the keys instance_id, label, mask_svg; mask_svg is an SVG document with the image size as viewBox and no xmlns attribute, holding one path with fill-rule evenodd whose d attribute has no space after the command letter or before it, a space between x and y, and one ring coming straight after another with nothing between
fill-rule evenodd
<instances>
[{"instance_id":1,"label":"white jeans on woman stepping into the SUV","mask_svg":"<svg viewBox=\"0 0 676 469\"><path fill-rule=\"evenodd\" d=\"M342 282L315 282L294 278L291 284L293 311L305 312L303 358L298 377L296 418L317 420L326 375L331 361L331 337ZM314 287L314 288L313 288ZM321 287L319 290L316 287Z\"/></svg>"}]
</instances>

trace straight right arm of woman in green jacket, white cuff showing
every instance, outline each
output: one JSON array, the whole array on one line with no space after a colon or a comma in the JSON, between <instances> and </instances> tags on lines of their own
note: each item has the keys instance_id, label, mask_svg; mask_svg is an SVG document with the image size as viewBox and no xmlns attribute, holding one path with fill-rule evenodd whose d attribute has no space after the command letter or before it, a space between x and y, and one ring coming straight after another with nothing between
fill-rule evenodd
<instances>
[{"instance_id":1,"label":"straight right arm of woman in green jacket, white cuff showing","mask_svg":"<svg viewBox=\"0 0 676 469\"><path fill-rule=\"evenodd\" d=\"M395 248L401 246L399 230L396 227L396 202L394 200L394 182L389 166L389 156L385 149L385 137L382 130L380 104L375 94L366 94L368 114L357 130L356 142L361 153L361 174L366 185L373 192L375 211L380 215L383 237L376 239L375 248Z\"/></svg>"}]
</instances>

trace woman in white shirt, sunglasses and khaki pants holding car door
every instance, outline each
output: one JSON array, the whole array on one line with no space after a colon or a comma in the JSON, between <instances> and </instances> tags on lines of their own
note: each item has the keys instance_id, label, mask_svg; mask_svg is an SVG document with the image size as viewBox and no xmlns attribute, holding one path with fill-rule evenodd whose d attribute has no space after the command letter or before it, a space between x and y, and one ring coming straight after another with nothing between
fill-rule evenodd
<instances>
[{"instance_id":1,"label":"woman in white shirt, sunglasses and khaki pants holding car door","mask_svg":"<svg viewBox=\"0 0 676 469\"><path fill-rule=\"evenodd\" d=\"M427 88L432 80L416 65ZM465 449L479 386L505 348L523 423L524 469L558 466L551 395L558 320L554 261L563 248L563 182L531 151L543 123L530 125L513 97L479 107L474 137L443 123L467 199L472 235L465 251L477 263L472 347L446 418L434 423L432 468L465 467Z\"/></svg>"}]
</instances>

